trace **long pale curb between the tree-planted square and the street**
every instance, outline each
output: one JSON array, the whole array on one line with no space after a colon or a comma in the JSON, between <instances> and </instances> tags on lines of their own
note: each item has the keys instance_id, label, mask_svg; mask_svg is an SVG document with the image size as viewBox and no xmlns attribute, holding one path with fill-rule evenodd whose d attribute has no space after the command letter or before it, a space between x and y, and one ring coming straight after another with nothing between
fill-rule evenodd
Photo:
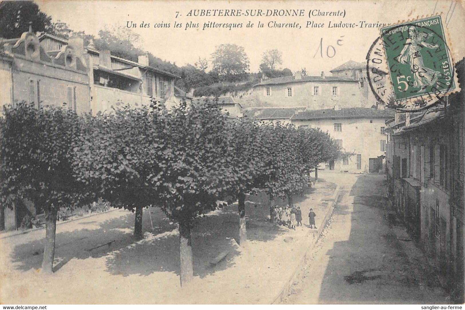
<instances>
[{"instance_id":1,"label":"long pale curb between the tree-planted square and the street","mask_svg":"<svg viewBox=\"0 0 465 310\"><path fill-rule=\"evenodd\" d=\"M321 236L321 232L323 229L325 229L326 225L329 222L330 217L332 216L332 211L334 210L334 206L338 202L339 198L339 192L340 192L340 187L339 185L336 187L334 190L334 194L331 196L329 199L322 199L321 201L327 201L330 202L330 206L328 208L328 211L326 211L326 215L323 219L323 222L319 225L318 232L316 234L313 234L312 240L309 242L307 249L305 251L304 256L299 260L299 262L295 265L296 268L292 272L292 275L289 277L289 279L286 281L284 284L283 288L280 290L278 296L273 297L272 303L271 304L279 304L281 300L288 295L288 293L291 291L292 284L296 280L297 276L299 276L300 270L302 267L306 264L307 262L307 254L310 254L310 251L313 249L315 244L318 242L319 237ZM316 236L316 237L315 237Z\"/></svg>"}]
</instances>

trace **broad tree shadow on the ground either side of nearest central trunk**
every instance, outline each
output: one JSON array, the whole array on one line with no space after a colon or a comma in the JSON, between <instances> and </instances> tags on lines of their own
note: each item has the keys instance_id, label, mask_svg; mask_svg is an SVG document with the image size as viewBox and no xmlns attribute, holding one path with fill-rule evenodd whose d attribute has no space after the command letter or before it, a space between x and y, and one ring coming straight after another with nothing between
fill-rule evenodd
<instances>
[{"instance_id":1,"label":"broad tree shadow on the ground either side of nearest central trunk","mask_svg":"<svg viewBox=\"0 0 465 310\"><path fill-rule=\"evenodd\" d=\"M255 233L256 231L260 233ZM285 229L268 222L247 222L248 241L266 242L284 232ZM230 268L234 265L234 258L240 255L240 247L235 241L239 237L239 215L227 208L213 211L197 222L191 230L191 237L194 276L202 278ZM218 257L222 259L217 262L215 258ZM163 271L179 275L177 228L159 233L146 233L146 237L140 242L108 255L106 267L106 271L113 275L148 276Z\"/></svg>"}]
</instances>

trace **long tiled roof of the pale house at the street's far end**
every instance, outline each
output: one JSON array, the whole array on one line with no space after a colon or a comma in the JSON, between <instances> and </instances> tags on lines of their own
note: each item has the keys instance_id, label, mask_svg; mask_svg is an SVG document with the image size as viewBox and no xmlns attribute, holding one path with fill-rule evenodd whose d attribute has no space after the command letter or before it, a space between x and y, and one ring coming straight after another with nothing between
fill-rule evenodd
<instances>
[{"instance_id":1,"label":"long tiled roof of the pale house at the street's far end","mask_svg":"<svg viewBox=\"0 0 465 310\"><path fill-rule=\"evenodd\" d=\"M306 110L292 116L291 120L314 120L324 118L391 118L394 112L373 108L341 108L339 110Z\"/></svg>"}]
</instances>

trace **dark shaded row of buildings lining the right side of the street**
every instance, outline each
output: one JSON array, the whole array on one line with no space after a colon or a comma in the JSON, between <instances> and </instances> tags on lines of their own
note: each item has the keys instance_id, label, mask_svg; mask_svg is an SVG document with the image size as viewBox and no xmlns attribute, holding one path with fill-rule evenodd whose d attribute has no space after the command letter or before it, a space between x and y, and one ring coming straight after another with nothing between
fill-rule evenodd
<instances>
[{"instance_id":1,"label":"dark shaded row of buildings lining the right side of the street","mask_svg":"<svg viewBox=\"0 0 465 310\"><path fill-rule=\"evenodd\" d=\"M463 81L464 60L457 67ZM463 303L465 93L444 99L387 122L386 174L399 219Z\"/></svg>"}]
</instances>

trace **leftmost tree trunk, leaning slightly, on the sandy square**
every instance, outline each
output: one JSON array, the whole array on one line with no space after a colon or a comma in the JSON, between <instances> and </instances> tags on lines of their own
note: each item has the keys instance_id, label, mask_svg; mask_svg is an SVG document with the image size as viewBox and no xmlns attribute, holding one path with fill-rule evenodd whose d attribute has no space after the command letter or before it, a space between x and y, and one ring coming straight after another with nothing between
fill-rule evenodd
<instances>
[{"instance_id":1,"label":"leftmost tree trunk, leaning slightly, on the sandy square","mask_svg":"<svg viewBox=\"0 0 465 310\"><path fill-rule=\"evenodd\" d=\"M53 207L49 207L45 211L45 248L42 259L42 272L49 275L53 273L57 213L58 210Z\"/></svg>"}]
</instances>

